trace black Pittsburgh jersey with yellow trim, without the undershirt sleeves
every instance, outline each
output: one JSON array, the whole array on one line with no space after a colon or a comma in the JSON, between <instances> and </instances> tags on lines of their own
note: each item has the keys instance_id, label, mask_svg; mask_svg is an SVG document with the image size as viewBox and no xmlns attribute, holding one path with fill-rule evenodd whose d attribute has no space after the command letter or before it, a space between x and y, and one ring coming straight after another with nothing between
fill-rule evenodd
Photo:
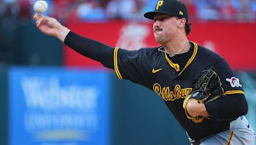
<instances>
[{"instance_id":1,"label":"black Pittsburgh jersey with yellow trim, without the undershirt sleeves","mask_svg":"<svg viewBox=\"0 0 256 145\"><path fill-rule=\"evenodd\" d=\"M225 128L225 121L213 119L212 113L210 120L193 122L184 113L183 100L191 93L193 83L201 72L213 66L221 78L226 95L241 94L239 97L244 97L244 92L239 79L220 55L196 43L190 44L189 52L175 57L160 52L160 48L141 48L138 51L115 48L114 66L119 79L129 79L156 92L188 134L193 139L202 139L220 132Z\"/></svg>"}]
</instances>

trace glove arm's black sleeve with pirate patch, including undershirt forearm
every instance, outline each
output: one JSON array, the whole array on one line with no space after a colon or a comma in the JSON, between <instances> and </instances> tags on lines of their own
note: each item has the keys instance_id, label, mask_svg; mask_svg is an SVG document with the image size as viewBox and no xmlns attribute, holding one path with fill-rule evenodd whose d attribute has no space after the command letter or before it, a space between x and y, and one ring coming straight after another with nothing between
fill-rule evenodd
<instances>
[{"instance_id":1,"label":"glove arm's black sleeve with pirate patch, including undershirt forearm","mask_svg":"<svg viewBox=\"0 0 256 145\"><path fill-rule=\"evenodd\" d=\"M224 59L214 65L224 88L224 95L220 100L205 103L211 118L218 120L234 120L248 111L248 104L244 96L243 87L234 72Z\"/></svg>"}]
</instances>

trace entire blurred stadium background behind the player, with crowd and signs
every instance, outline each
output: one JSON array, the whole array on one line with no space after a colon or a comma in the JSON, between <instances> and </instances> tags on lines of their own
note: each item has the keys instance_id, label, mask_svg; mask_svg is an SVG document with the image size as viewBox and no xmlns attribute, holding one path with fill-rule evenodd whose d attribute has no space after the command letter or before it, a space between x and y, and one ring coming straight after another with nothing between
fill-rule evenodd
<instances>
[{"instance_id":1,"label":"entire blurred stadium background behind the player, with crowd and signs","mask_svg":"<svg viewBox=\"0 0 256 145\"><path fill-rule=\"evenodd\" d=\"M44 15L72 31L129 50L158 46L143 18L157 0L47 0ZM183 0L189 39L236 71L256 127L256 1ZM154 92L45 36L35 0L0 1L0 144L189 144Z\"/></svg>"}]
</instances>

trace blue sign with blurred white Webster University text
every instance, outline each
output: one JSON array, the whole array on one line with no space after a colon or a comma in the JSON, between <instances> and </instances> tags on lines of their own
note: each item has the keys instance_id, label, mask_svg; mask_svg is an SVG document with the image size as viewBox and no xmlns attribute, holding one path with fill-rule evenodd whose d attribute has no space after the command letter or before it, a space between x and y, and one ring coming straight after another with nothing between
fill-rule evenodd
<instances>
[{"instance_id":1,"label":"blue sign with blurred white Webster University text","mask_svg":"<svg viewBox=\"0 0 256 145\"><path fill-rule=\"evenodd\" d=\"M12 67L9 144L109 144L105 71Z\"/></svg>"}]
</instances>

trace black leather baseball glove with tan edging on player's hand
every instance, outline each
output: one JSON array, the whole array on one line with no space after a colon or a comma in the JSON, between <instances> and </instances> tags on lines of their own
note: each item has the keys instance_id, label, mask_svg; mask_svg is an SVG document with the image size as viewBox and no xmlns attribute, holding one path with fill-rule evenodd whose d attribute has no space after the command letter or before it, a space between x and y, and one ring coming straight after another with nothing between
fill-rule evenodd
<instances>
[{"instance_id":1,"label":"black leather baseball glove with tan edging on player's hand","mask_svg":"<svg viewBox=\"0 0 256 145\"><path fill-rule=\"evenodd\" d=\"M202 71L202 74L196 79L193 84L193 90L183 102L183 108L185 109L186 116L189 120L196 122L202 122L205 116L192 117L189 115L186 105L190 100L196 100L199 103L207 103L223 97L223 88L221 86L220 77L218 76L214 67L209 67ZM206 117L208 118L208 117ZM209 118L208 118L209 119Z\"/></svg>"}]
</instances>

